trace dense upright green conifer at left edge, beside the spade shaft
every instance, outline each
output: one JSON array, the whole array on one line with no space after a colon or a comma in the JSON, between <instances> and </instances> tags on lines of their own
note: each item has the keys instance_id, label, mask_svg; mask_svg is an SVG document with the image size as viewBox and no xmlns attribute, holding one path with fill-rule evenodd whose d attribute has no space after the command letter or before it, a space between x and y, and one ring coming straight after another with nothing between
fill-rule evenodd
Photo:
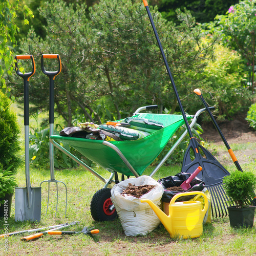
<instances>
[{"instance_id":1,"label":"dense upright green conifer at left edge, beside the spade shaft","mask_svg":"<svg viewBox=\"0 0 256 256\"><path fill-rule=\"evenodd\" d=\"M0 91L0 99L3 109L0 110L0 169L7 170L12 165L10 171L15 174L22 164L20 157L20 127L16 113L11 109L11 100Z\"/></svg>"}]
</instances>

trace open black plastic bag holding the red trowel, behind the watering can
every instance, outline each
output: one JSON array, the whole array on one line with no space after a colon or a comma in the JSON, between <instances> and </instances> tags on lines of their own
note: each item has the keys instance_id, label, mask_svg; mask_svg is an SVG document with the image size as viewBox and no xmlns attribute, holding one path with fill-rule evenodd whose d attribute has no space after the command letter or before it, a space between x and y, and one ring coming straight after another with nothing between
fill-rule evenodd
<instances>
[{"instance_id":1,"label":"open black plastic bag holding the red trowel, behind the watering can","mask_svg":"<svg viewBox=\"0 0 256 256\"><path fill-rule=\"evenodd\" d=\"M164 188L164 193L162 196L162 201L165 203L169 203L172 198L179 193L179 191L172 191L172 190L166 190L166 188L169 187L179 187L184 181L186 181L190 177L190 173L178 173L175 176L168 176L162 179L159 179L158 182L163 186ZM195 177L191 182L190 182L191 188L184 191L184 192L190 192L190 191L202 191L205 188L205 183ZM181 201L189 201L193 199L195 196L184 196L184 197L179 197L176 202L181 202Z\"/></svg>"}]
</instances>

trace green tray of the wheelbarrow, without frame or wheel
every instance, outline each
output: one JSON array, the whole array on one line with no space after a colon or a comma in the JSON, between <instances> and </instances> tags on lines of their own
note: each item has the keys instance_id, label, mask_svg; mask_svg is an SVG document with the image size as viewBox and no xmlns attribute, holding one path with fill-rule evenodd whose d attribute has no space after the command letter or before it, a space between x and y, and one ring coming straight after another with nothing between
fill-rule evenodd
<instances>
[{"instance_id":1,"label":"green tray of the wheelbarrow, without frame or wheel","mask_svg":"<svg viewBox=\"0 0 256 256\"><path fill-rule=\"evenodd\" d=\"M161 153L170 137L184 123L182 115L147 114L140 113L134 117L146 118L162 122L165 126L151 135L140 140L111 141L118 147L124 157L134 167L138 175L142 175L148 165ZM191 116L187 116L188 119ZM109 172L118 172L126 176L134 175L120 156L111 148L104 145L104 141L84 138L52 135L52 140L68 144L83 156L97 163Z\"/></svg>"}]
</instances>

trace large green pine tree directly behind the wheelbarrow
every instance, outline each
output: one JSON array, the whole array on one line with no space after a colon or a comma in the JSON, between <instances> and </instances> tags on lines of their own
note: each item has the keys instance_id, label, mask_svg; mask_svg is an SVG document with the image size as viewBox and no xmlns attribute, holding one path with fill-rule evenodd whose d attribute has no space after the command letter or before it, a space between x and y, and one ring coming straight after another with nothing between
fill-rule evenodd
<instances>
[{"instance_id":1,"label":"large green pine tree directly behind the wheelbarrow","mask_svg":"<svg viewBox=\"0 0 256 256\"><path fill-rule=\"evenodd\" d=\"M59 54L62 72L55 79L56 113L71 125L81 116L101 123L130 115L141 105L158 104L160 112L173 112L177 102L163 65L144 6L130 1L104 1L89 8L67 6L62 1L46 3L40 15L47 20L46 38L33 29L20 44L23 54L33 54L36 66L44 53ZM166 22L151 8L167 60L185 108L194 104L193 89L200 86L196 74L212 57L212 42L202 42L195 19L178 11L179 26ZM54 69L49 63L49 70ZM48 77L38 71L30 79L30 100L47 110ZM20 80L12 80L22 95ZM193 96L190 96L193 95ZM106 113L106 116L104 116Z\"/></svg>"}]
</instances>

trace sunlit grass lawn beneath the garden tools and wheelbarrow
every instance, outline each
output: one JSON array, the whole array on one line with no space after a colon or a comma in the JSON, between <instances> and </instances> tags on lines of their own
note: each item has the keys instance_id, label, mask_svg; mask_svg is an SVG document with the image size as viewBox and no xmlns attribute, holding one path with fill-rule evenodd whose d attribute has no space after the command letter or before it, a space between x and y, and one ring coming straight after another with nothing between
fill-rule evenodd
<instances>
[{"instance_id":1,"label":"sunlit grass lawn beneath the garden tools and wheelbarrow","mask_svg":"<svg viewBox=\"0 0 256 256\"><path fill-rule=\"evenodd\" d=\"M256 143L246 143L235 146L230 145L237 155L245 148L255 148ZM211 149L219 155L226 154L222 146L215 146L211 143ZM250 159L248 163L246 156L241 160L240 165L244 170L255 172L256 163ZM231 172L236 169L232 160L225 167ZM155 180L180 172L181 166L164 166L153 177ZM96 167L97 172L105 178L109 173ZM149 175L152 167L145 170L144 175ZM31 186L38 187L41 181L50 179L49 169L30 168ZM120 220L112 222L95 222L91 217L90 203L96 191L103 187L103 183L82 167L74 169L55 169L55 179L65 182L68 187L68 208L65 217L65 187L58 183L59 202L55 217L56 207L56 186L51 183L50 200L47 215L48 183L42 184L42 207L41 220L39 223L15 222L14 202L12 201L11 216L7 225L3 219L0 220L2 233L7 226L8 232L28 230L44 226L51 226L62 223L79 221L79 224L65 230L81 231L84 226L99 229L98 234L92 236L84 234L74 235L49 235L22 242L20 238L28 233L11 236L2 239L0 255L256 255L256 223L252 228L234 229L229 225L228 218L212 219L210 224L204 225L203 234L194 239L171 239L169 233L160 224L154 231L146 236L127 237L124 234ZM19 187L25 187L25 166L21 167L17 174ZM147 225L147 223L145 223ZM8 246L5 251L5 245Z\"/></svg>"}]
</instances>

